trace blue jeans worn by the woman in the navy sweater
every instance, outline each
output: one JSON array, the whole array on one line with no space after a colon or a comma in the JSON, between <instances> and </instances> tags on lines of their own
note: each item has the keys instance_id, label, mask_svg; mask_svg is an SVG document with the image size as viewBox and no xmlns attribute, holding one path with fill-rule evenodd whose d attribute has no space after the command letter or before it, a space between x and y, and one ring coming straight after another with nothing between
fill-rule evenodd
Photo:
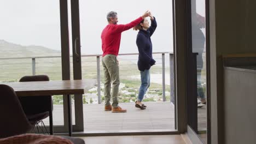
<instances>
[{"instance_id":1,"label":"blue jeans worn by the woman in the navy sweater","mask_svg":"<svg viewBox=\"0 0 256 144\"><path fill-rule=\"evenodd\" d=\"M149 70L141 71L141 87L139 88L139 94L137 101L142 101L144 94L150 86L150 73Z\"/></svg>"}]
</instances>

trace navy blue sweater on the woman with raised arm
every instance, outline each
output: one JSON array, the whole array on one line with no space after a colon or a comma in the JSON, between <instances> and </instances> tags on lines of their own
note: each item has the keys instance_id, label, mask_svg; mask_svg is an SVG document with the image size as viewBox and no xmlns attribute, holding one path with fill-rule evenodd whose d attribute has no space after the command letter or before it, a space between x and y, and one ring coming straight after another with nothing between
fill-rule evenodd
<instances>
[{"instance_id":1,"label":"navy blue sweater on the woman with raised arm","mask_svg":"<svg viewBox=\"0 0 256 144\"><path fill-rule=\"evenodd\" d=\"M139 30L136 44L139 51L138 56L138 69L144 71L150 69L155 64L155 60L152 57L152 42L150 37L154 33L156 28L155 17L151 20L151 26L145 31L144 29Z\"/></svg>"}]
</instances>

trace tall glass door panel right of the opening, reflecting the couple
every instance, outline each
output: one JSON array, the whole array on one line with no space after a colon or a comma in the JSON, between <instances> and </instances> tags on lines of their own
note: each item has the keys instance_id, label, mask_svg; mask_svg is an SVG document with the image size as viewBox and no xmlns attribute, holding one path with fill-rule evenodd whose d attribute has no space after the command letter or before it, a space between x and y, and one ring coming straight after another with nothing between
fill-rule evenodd
<instances>
[{"instance_id":1,"label":"tall glass door panel right of the opening, reflecting the couple","mask_svg":"<svg viewBox=\"0 0 256 144\"><path fill-rule=\"evenodd\" d=\"M190 6L188 124L207 143L206 1L191 0Z\"/></svg>"}]
</instances>

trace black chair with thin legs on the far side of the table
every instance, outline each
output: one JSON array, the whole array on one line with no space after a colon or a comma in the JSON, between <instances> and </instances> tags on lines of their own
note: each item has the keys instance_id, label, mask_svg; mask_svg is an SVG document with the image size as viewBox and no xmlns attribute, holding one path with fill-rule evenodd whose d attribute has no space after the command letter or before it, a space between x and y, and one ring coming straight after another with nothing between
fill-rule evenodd
<instances>
[{"instance_id":1,"label":"black chair with thin legs on the far side of the table","mask_svg":"<svg viewBox=\"0 0 256 144\"><path fill-rule=\"evenodd\" d=\"M20 82L26 81L49 81L49 77L47 75L34 75L34 76L24 76L21 77ZM49 116L50 121L50 134L53 134L53 100L51 95L43 95L37 97L19 97L22 108L27 115L27 118L30 122L37 124L37 131L42 131L44 133L44 129L46 133L48 131L45 128L43 123L43 119ZM41 126L39 127L39 123Z\"/></svg>"}]
</instances>

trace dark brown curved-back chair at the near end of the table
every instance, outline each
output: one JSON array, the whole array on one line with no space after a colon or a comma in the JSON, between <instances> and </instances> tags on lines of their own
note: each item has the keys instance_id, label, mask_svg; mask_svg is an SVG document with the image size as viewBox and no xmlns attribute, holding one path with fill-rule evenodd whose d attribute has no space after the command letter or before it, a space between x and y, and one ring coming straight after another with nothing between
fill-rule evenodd
<instances>
[{"instance_id":1,"label":"dark brown curved-back chair at the near end of the table","mask_svg":"<svg viewBox=\"0 0 256 144\"><path fill-rule=\"evenodd\" d=\"M13 88L0 85L0 138L24 134L36 123L28 121Z\"/></svg>"}]
</instances>

